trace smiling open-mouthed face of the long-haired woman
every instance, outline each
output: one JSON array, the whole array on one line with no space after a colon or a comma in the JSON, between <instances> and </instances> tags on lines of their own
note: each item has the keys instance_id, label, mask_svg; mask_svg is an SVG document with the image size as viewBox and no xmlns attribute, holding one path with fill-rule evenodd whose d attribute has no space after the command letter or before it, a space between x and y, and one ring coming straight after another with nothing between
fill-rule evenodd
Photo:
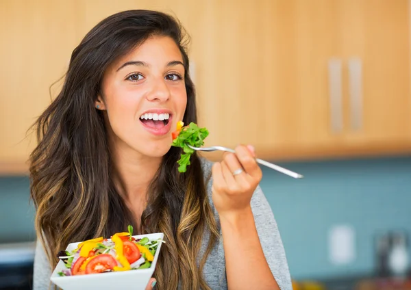
<instances>
[{"instance_id":1,"label":"smiling open-mouthed face of the long-haired woman","mask_svg":"<svg viewBox=\"0 0 411 290\"><path fill-rule=\"evenodd\" d=\"M149 38L121 57L106 70L102 91L96 106L107 112L116 150L148 157L169 151L187 104L182 54L171 38Z\"/></svg>"}]
</instances>

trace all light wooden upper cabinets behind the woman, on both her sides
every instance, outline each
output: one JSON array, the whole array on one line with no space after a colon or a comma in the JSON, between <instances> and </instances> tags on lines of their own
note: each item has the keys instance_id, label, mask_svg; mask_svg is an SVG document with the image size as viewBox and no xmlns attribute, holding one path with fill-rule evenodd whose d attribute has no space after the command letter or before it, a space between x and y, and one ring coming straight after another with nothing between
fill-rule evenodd
<instances>
[{"instance_id":1,"label":"all light wooden upper cabinets behind the woman, on both her sides","mask_svg":"<svg viewBox=\"0 0 411 290\"><path fill-rule=\"evenodd\" d=\"M5 0L1 173L26 170L35 140L25 133L71 51L128 9L186 27L207 145L254 144L266 159L411 152L407 0Z\"/></svg>"}]
</instances>

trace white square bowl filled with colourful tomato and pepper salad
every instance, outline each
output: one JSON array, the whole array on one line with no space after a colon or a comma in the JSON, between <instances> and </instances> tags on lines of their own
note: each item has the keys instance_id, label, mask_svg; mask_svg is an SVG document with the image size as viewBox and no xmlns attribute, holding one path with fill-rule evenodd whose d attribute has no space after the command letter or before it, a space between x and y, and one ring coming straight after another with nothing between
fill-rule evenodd
<instances>
[{"instance_id":1,"label":"white square bowl filled with colourful tomato and pepper salad","mask_svg":"<svg viewBox=\"0 0 411 290\"><path fill-rule=\"evenodd\" d=\"M116 233L70 243L58 253L60 259L51 275L58 287L70 289L145 289L153 275L163 233L132 235Z\"/></svg>"}]
</instances>

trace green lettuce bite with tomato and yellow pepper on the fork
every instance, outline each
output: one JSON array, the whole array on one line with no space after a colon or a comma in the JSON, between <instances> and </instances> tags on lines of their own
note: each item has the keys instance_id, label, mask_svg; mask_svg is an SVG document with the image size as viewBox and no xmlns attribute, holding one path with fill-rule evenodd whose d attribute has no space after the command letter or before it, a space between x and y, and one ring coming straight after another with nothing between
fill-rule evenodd
<instances>
[{"instance_id":1,"label":"green lettuce bite with tomato and yellow pepper on the fork","mask_svg":"<svg viewBox=\"0 0 411 290\"><path fill-rule=\"evenodd\" d=\"M180 156L178 171L186 172L187 166L190 165L190 157L194 153L194 149L188 147L188 145L194 147L201 147L204 145L204 139L208 136L209 132L206 128L199 128L194 122L190 122L188 126L182 127L183 122L177 123L177 131L173 132L173 144L172 146L183 148L184 153Z\"/></svg>"}]
</instances>

